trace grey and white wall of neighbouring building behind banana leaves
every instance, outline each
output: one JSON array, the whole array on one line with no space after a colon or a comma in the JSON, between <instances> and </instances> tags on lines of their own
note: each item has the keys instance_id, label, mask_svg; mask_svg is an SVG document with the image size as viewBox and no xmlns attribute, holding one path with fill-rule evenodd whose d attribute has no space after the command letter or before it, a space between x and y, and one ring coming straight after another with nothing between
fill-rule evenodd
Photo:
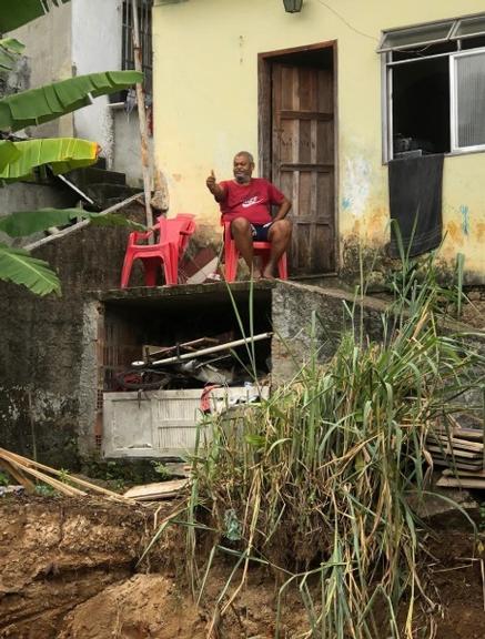
<instances>
[{"instance_id":1,"label":"grey and white wall of neighbouring building behind banana leaves","mask_svg":"<svg viewBox=\"0 0 485 639\"><path fill-rule=\"evenodd\" d=\"M12 32L27 45L29 89L99 71L119 71L122 57L122 0L71 0L61 8ZM137 115L122 121L109 106L109 97L59 120L32 128L33 136L95 140L108 168L127 172L128 183L142 181Z\"/></svg>"}]
</instances>

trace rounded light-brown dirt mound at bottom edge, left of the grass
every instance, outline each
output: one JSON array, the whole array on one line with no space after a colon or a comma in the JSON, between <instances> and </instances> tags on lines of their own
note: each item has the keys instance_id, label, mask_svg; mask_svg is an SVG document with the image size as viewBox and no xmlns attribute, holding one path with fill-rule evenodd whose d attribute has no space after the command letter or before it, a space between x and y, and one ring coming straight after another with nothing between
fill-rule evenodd
<instances>
[{"instance_id":1,"label":"rounded light-brown dirt mound at bottom edge, left of the grass","mask_svg":"<svg viewBox=\"0 0 485 639\"><path fill-rule=\"evenodd\" d=\"M203 639L205 621L174 582L137 575L110 586L65 619L59 639Z\"/></svg>"}]
</instances>

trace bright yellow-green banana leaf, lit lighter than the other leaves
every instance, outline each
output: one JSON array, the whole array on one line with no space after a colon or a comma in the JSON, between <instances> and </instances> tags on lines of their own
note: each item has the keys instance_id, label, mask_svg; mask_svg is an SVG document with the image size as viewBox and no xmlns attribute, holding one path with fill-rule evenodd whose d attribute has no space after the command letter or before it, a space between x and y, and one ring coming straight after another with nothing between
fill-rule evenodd
<instances>
[{"instance_id":1,"label":"bright yellow-green banana leaf, lit lighter than the other leaves","mask_svg":"<svg viewBox=\"0 0 485 639\"><path fill-rule=\"evenodd\" d=\"M75 138L41 138L23 142L10 142L19 152L0 171L0 181L17 182L32 175L37 166L49 164L55 175L73 169L89 166L98 161L100 148L97 142ZM0 165L2 163L0 146ZM7 154L9 148L3 152Z\"/></svg>"}]
</instances>

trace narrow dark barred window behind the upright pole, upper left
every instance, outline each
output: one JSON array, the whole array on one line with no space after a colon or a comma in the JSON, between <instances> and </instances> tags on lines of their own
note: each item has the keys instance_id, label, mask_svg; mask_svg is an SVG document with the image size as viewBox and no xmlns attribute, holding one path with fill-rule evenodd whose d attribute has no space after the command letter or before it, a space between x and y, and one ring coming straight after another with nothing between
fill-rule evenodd
<instances>
[{"instance_id":1,"label":"narrow dark barred window behind the upright pole, upper left","mask_svg":"<svg viewBox=\"0 0 485 639\"><path fill-rule=\"evenodd\" d=\"M134 69L133 51L133 12L131 0L123 2L122 60L123 70ZM152 0L138 0L138 21L140 26L140 44L144 90L152 94Z\"/></svg>"}]
</instances>

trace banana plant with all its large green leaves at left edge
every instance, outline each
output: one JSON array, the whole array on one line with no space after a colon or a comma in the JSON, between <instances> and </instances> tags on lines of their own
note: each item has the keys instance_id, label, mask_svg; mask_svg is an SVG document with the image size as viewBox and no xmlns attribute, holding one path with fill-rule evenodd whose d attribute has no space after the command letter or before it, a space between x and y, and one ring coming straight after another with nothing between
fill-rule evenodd
<instances>
[{"instance_id":1,"label":"banana plant with all its large green leaves at left edge","mask_svg":"<svg viewBox=\"0 0 485 639\"><path fill-rule=\"evenodd\" d=\"M69 0L0 0L0 33L9 32L40 18L54 7ZM12 69L23 44L13 38L0 40L0 70ZM54 82L47 87L8 95L0 100L0 186L32 176L36 169L49 165L54 174L98 160L95 142L77 139L8 139L26 126L36 126L87 106L94 98L108 95L142 82L137 71L107 71ZM73 219L84 217L92 223L133 226L120 215L102 215L74 210L44 209L21 211L0 219L0 231L12 237L64 225ZM0 242L0 280L27 286L38 295L60 294L58 275L42 260L32 257L22 248Z\"/></svg>"}]
</instances>

